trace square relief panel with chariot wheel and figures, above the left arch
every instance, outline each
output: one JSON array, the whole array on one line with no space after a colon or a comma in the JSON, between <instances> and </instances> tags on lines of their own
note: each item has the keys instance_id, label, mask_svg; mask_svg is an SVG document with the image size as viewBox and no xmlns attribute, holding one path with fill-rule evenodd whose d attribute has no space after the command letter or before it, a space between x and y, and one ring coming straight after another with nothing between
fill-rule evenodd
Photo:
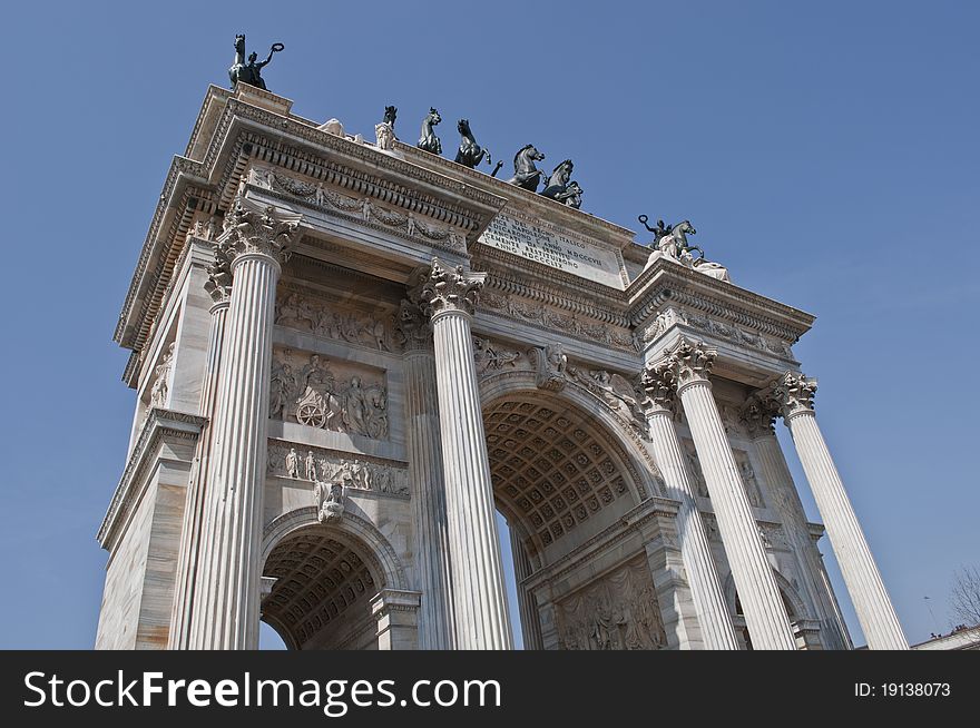
<instances>
[{"instance_id":1,"label":"square relief panel with chariot wheel and figures, above the left arch","mask_svg":"<svg viewBox=\"0 0 980 728\"><path fill-rule=\"evenodd\" d=\"M384 440L389 423L383 374L320 354L275 347L268 416Z\"/></svg>"}]
</instances>

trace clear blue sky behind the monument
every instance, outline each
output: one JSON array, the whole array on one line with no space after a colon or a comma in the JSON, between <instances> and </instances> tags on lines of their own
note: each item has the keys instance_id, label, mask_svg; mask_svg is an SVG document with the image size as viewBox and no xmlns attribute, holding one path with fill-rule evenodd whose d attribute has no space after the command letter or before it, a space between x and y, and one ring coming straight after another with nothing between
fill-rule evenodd
<instances>
[{"instance_id":1,"label":"clear blue sky behind the monument","mask_svg":"<svg viewBox=\"0 0 980 728\"><path fill-rule=\"evenodd\" d=\"M300 115L370 137L395 104L411 140L435 106L448 150L467 117L508 161L571 157L584 209L690 218L737 284L816 314L795 351L899 616L912 641L949 629L952 573L980 561L980 8L545 6L6 9L0 647L94 642L134 404L112 328L236 32L286 45L264 76Z\"/></svg>"}]
</instances>

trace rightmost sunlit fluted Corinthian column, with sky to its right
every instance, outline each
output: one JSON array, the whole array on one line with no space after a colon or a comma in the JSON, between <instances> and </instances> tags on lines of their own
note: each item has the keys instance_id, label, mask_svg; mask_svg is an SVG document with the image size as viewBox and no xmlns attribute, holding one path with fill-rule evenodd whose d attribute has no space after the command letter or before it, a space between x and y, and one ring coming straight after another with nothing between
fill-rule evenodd
<instances>
[{"instance_id":1,"label":"rightmost sunlit fluted Corinthian column, with sky to its right","mask_svg":"<svg viewBox=\"0 0 980 728\"><path fill-rule=\"evenodd\" d=\"M783 420L793 434L800 462L813 490L813 499L826 527L868 646L873 650L906 650L909 642L899 617L816 424L814 394L816 380L797 372L786 372L765 393L780 405Z\"/></svg>"}]
</instances>

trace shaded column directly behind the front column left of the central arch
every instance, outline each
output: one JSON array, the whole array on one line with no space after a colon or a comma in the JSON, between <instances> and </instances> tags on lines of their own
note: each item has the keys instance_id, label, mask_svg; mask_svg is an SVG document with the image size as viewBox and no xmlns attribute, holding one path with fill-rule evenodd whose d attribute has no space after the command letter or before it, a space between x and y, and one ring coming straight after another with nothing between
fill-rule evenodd
<instances>
[{"instance_id":1,"label":"shaded column directly behind the front column left of the central arch","mask_svg":"<svg viewBox=\"0 0 980 728\"><path fill-rule=\"evenodd\" d=\"M432 329L415 303L402 301L398 331L404 345L409 479L412 482L415 553L422 591L419 648L449 650L454 647L452 572Z\"/></svg>"}]
</instances>

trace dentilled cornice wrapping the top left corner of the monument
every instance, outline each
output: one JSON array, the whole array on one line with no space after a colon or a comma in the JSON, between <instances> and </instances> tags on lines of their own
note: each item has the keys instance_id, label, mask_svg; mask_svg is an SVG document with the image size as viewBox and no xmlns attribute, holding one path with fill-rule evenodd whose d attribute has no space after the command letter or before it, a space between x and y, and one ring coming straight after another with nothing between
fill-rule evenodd
<instances>
[{"instance_id":1,"label":"dentilled cornice wrapping the top left corner of the monument","mask_svg":"<svg viewBox=\"0 0 980 728\"><path fill-rule=\"evenodd\" d=\"M253 106L217 87L208 90L188 154L204 145L200 135L215 104L224 108L213 129L207 121L210 139L202 159L175 157L164 183L114 334L125 347L138 350L146 343L148 322L158 313L196 201L207 196L212 213L227 209L229 195L252 159L458 226L470 243L507 201L373 146L322 131L310 120ZM223 155L228 158L220 180L209 184Z\"/></svg>"}]
</instances>

